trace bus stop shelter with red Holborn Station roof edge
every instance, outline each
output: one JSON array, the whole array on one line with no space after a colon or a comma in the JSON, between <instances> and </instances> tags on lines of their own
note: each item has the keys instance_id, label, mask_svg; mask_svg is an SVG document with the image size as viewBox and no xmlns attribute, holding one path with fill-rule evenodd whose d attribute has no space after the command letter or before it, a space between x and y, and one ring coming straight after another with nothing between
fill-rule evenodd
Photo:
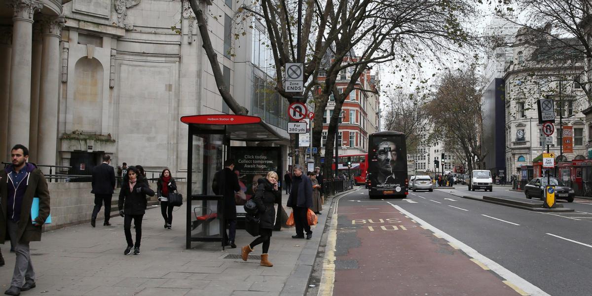
<instances>
[{"instance_id":1,"label":"bus stop shelter with red Holborn Station roof edge","mask_svg":"<svg viewBox=\"0 0 592 296\"><path fill-rule=\"evenodd\" d=\"M231 155L230 141L282 141L285 138L255 116L191 115L181 117L181 122L189 126L186 249L191 248L191 242L221 242L224 249L224 198L214 194L212 183L215 173L223 169L224 160ZM277 169L278 173L282 172L281 165Z\"/></svg>"}]
</instances>

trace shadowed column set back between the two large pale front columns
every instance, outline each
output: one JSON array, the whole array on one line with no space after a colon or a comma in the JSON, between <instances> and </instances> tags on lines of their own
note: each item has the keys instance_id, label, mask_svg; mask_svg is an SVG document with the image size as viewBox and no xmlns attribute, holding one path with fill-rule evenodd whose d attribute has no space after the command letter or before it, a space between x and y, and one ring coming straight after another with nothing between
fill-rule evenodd
<instances>
[{"instance_id":1,"label":"shadowed column set back between the two large pale front columns","mask_svg":"<svg viewBox=\"0 0 592 296\"><path fill-rule=\"evenodd\" d=\"M39 87L41 84L41 26L33 24L33 53L31 55L31 121L29 123L29 161L37 163L37 118L39 115Z\"/></svg>"}]
</instances>

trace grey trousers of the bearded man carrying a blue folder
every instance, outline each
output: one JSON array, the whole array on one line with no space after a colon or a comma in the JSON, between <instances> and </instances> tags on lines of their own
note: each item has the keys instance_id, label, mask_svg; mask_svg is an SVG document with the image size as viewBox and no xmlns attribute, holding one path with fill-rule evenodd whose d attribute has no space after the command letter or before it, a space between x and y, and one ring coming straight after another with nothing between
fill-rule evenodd
<instances>
[{"instance_id":1,"label":"grey trousers of the bearded man carrying a blue folder","mask_svg":"<svg viewBox=\"0 0 592 296\"><path fill-rule=\"evenodd\" d=\"M17 254L17 260L14 263L14 272L12 272L12 281L10 282L10 285L21 288L25 282L35 282L35 271L33 271L33 264L31 263L29 243L17 241L17 222L8 220L7 224L10 242L12 246L14 246L14 252Z\"/></svg>"}]
</instances>

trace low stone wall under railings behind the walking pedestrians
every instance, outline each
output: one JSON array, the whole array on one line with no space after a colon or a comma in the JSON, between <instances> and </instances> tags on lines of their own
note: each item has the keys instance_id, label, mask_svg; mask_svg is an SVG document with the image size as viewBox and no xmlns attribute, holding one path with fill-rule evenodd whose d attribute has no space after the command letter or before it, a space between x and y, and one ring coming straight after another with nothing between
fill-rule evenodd
<instances>
[{"instance_id":1,"label":"low stone wall under railings behind the walking pedestrians","mask_svg":"<svg viewBox=\"0 0 592 296\"><path fill-rule=\"evenodd\" d=\"M92 208L94 207L94 194L91 194L91 183L89 182L65 182L49 183L50 205L52 213L52 223L43 226L44 231L59 229L80 223L91 221ZM150 188L156 191L156 183L151 182ZM187 184L186 182L177 182L178 191L183 194L186 200ZM118 215L117 200L119 188L115 189L111 201L111 217ZM157 205L155 197L150 198L149 207ZM97 215L97 224L102 224L104 217L104 207Z\"/></svg>"}]
</instances>

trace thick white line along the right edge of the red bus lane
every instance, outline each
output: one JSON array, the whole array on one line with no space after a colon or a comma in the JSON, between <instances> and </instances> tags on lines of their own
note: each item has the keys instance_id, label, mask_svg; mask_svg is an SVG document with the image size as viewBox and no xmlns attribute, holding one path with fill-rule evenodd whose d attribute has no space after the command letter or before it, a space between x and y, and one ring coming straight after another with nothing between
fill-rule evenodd
<instances>
[{"instance_id":1,"label":"thick white line along the right edge of the red bus lane","mask_svg":"<svg viewBox=\"0 0 592 296\"><path fill-rule=\"evenodd\" d=\"M485 266L487 266L489 269L491 269L491 271L495 272L496 274L500 275L502 278L506 279L506 281L504 281L504 284L513 288L516 292L519 292L519 291L524 292L524 294L521 294L521 295L551 296L551 295L547 294L545 291L543 291L542 289L540 289L539 287L536 287L535 285L530 284L530 282L526 281L526 279L523 279L520 276L509 271L508 269L504 268L504 266L501 266L499 263L485 257L484 255L481 255L481 253L477 252L477 250L473 249L472 247L469 247L468 245L461 242L460 240L455 239L450 234L437 229L436 227L430 225L429 223L427 223L426 221L417 217L416 215L413 215L413 214L409 213L408 211L403 210L403 208L399 207L398 205L392 205L392 207L396 208L401 213L406 214L409 217L412 217L413 220L416 220L423 229L430 230L433 233L437 233L440 236L442 236L443 239L447 240L448 242L454 243L456 246L459 247L459 249L461 249L463 252L465 252L467 256L479 260L481 263L483 263Z\"/></svg>"}]
</instances>

